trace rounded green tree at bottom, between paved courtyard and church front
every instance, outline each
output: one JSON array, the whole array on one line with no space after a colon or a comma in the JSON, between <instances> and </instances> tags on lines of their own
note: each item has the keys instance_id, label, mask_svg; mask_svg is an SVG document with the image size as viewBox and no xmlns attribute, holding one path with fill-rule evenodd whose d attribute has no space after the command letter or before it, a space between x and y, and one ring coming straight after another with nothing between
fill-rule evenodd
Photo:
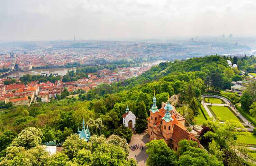
<instances>
[{"instance_id":1,"label":"rounded green tree at bottom, between paved courtyard and church front","mask_svg":"<svg viewBox=\"0 0 256 166\"><path fill-rule=\"evenodd\" d=\"M176 153L170 149L164 140L152 140L146 144L146 153L149 155L147 166L174 166L177 161Z\"/></svg>"}]
</instances>

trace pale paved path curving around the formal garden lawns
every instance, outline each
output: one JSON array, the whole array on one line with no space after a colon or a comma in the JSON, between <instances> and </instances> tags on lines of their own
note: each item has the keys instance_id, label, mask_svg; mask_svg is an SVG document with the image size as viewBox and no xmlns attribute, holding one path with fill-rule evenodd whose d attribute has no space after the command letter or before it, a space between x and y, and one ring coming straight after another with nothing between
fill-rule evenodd
<instances>
[{"instance_id":1,"label":"pale paved path curving around the formal garden lawns","mask_svg":"<svg viewBox=\"0 0 256 166\"><path fill-rule=\"evenodd\" d=\"M217 96L202 96L202 97L203 97L203 98L205 98L205 97L219 98L219 97L217 97ZM232 110L241 120L244 121L244 124L245 124L245 125L248 125L248 120L247 120L243 115L241 115L235 107L230 107L230 103L228 102L227 99L223 99L223 98L219 98L219 99L222 99L222 100L225 101L227 104L212 104L212 105L227 106L227 107L231 108L231 110ZM201 103L203 104L204 109L205 109L205 110L207 111L207 113L209 114L210 110L208 109L207 105L211 105L211 103L205 103L203 100L202 100ZM209 112L208 112L208 111L209 111ZM209 116L212 117L211 112L210 112ZM249 128L246 128L247 131L253 131L253 129L254 129L253 125L248 125L248 126L249 126Z\"/></svg>"}]
</instances>

